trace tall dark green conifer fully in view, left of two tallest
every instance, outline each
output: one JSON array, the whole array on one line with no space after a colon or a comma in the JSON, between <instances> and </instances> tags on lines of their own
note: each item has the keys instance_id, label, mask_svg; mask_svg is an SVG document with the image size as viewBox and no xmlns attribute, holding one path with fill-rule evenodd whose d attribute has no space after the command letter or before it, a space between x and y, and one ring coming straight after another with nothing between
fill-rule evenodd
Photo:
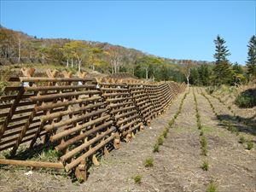
<instances>
[{"instance_id":1,"label":"tall dark green conifer fully in view, left of two tallest","mask_svg":"<svg viewBox=\"0 0 256 192\"><path fill-rule=\"evenodd\" d=\"M224 38L218 35L214 40L215 51L213 55L216 59L215 66L213 67L213 79L215 84L230 84L232 81L232 73L230 69L230 62L227 56L230 55L229 49L225 46Z\"/></svg>"}]
</instances>

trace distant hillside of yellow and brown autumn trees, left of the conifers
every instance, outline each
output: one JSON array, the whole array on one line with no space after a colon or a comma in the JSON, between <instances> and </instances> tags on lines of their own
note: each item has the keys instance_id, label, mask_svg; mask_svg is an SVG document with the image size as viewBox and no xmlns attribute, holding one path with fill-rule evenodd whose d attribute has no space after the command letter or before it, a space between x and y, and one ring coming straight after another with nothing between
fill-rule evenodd
<instances>
[{"instance_id":1,"label":"distant hillside of yellow and brown autumn trees, left of the conifers","mask_svg":"<svg viewBox=\"0 0 256 192\"><path fill-rule=\"evenodd\" d=\"M139 78L176 79L180 64L211 64L207 61L176 60L108 43L67 38L37 38L0 27L0 65L40 63L101 73L128 72ZM171 72L171 71L172 72ZM162 78L158 72L166 73ZM174 73L177 72L177 73ZM180 75L182 76L182 75ZM183 77L179 77L182 80Z\"/></svg>"}]
</instances>

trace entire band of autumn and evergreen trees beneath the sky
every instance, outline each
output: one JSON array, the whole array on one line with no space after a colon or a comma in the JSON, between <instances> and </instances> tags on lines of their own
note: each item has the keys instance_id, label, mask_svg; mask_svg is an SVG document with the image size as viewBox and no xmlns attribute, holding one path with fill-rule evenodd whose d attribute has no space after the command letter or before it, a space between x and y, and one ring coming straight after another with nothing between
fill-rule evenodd
<instances>
[{"instance_id":1,"label":"entire band of autumn and evergreen trees beneath the sky","mask_svg":"<svg viewBox=\"0 0 256 192\"><path fill-rule=\"evenodd\" d=\"M214 62L175 60L108 43L31 37L0 26L1 61L48 63L78 71L90 68L100 73L126 72L139 79L186 81L195 85L234 85L256 79L255 36L247 45L246 66L229 61L230 50L225 43L220 36L214 40Z\"/></svg>"}]
</instances>

